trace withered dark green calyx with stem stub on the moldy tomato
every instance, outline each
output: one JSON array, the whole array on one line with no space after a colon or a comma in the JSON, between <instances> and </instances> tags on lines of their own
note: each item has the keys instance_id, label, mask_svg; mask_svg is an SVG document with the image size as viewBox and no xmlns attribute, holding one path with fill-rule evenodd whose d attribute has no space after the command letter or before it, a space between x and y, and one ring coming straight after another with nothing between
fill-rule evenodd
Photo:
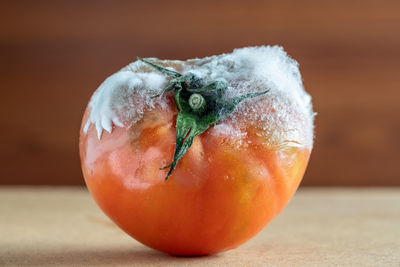
<instances>
[{"instance_id":1,"label":"withered dark green calyx with stem stub on the moldy tomato","mask_svg":"<svg viewBox=\"0 0 400 267\"><path fill-rule=\"evenodd\" d=\"M205 84L194 73L181 74L142 58L138 57L137 59L172 78L159 95L153 96L158 97L166 92L174 91L175 105L179 111L176 118L174 158L171 164L161 168L169 168L165 180L193 144L196 136L205 132L212 125L225 120L243 100L263 95L269 91L225 98L224 92L228 85L224 81L217 80Z\"/></svg>"}]
</instances>

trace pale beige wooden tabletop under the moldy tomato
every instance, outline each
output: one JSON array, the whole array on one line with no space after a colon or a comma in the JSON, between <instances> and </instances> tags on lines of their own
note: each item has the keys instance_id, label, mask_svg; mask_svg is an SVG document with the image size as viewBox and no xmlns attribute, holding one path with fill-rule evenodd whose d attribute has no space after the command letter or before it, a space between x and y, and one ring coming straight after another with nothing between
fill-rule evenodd
<instances>
[{"instance_id":1,"label":"pale beige wooden tabletop under the moldy tomato","mask_svg":"<svg viewBox=\"0 0 400 267\"><path fill-rule=\"evenodd\" d=\"M181 258L124 234L81 187L0 187L0 265L400 266L400 189L300 189L241 247Z\"/></svg>"}]
</instances>

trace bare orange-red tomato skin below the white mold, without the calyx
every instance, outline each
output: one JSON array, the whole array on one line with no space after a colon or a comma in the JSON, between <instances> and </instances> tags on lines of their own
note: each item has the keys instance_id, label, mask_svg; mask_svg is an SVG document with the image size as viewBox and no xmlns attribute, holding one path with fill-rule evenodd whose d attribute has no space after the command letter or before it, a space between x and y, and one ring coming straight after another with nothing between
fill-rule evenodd
<instances>
[{"instance_id":1,"label":"bare orange-red tomato skin below the white mold, without the calyx","mask_svg":"<svg viewBox=\"0 0 400 267\"><path fill-rule=\"evenodd\" d=\"M305 172L311 149L274 145L246 115L246 135L196 136L168 180L178 109L145 110L134 125L113 126L98 138L88 107L80 132L86 184L105 214L139 242L174 255L207 255L233 249L261 231L288 203ZM253 111L257 112L257 111Z\"/></svg>"}]
</instances>

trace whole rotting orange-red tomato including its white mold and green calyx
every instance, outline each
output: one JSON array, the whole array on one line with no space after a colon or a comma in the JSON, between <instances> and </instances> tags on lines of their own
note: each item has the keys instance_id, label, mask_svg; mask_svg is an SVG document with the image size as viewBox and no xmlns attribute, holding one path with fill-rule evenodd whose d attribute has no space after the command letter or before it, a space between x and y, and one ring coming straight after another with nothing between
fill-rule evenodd
<instances>
[{"instance_id":1,"label":"whole rotting orange-red tomato including its white mold and green calyx","mask_svg":"<svg viewBox=\"0 0 400 267\"><path fill-rule=\"evenodd\" d=\"M282 210L306 169L313 111L297 63L276 46L145 61L107 78L89 102L80 133L86 184L149 247L177 255L235 248ZM193 93L206 103L196 113ZM251 97L226 116L218 110L241 96ZM179 122L183 112L191 121Z\"/></svg>"}]
</instances>

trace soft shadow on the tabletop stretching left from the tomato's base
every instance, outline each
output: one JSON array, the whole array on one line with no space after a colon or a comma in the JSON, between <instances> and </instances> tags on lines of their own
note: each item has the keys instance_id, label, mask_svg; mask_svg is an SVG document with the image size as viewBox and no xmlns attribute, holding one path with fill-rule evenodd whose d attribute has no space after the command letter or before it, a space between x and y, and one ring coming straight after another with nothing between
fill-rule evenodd
<instances>
[{"instance_id":1,"label":"soft shadow on the tabletop stretching left from the tomato's base","mask_svg":"<svg viewBox=\"0 0 400 267\"><path fill-rule=\"evenodd\" d=\"M203 257L178 257L158 252L148 248L141 249L32 249L18 252L8 252L0 258L0 265L29 265L29 266L92 266L92 265L175 265L185 262L208 261L219 255Z\"/></svg>"}]
</instances>

